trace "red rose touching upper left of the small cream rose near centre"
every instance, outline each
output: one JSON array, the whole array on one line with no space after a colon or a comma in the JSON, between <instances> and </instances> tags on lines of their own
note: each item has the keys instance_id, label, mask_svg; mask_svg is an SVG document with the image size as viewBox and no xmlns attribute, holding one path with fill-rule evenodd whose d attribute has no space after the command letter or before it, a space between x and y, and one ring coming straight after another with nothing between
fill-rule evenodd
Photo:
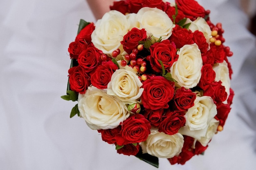
<instances>
[{"instance_id":1,"label":"red rose touching upper left of the small cream rose near centre","mask_svg":"<svg viewBox=\"0 0 256 170\"><path fill-rule=\"evenodd\" d=\"M112 74L118 69L112 61L103 62L91 74L91 83L99 89L105 89L111 80Z\"/></svg>"}]
</instances>

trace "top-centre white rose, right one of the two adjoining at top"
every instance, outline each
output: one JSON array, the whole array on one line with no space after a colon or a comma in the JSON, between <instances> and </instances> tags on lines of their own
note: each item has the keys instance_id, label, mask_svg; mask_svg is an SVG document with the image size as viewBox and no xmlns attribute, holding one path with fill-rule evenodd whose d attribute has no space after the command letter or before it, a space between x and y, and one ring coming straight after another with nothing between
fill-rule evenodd
<instances>
[{"instance_id":1,"label":"top-centre white rose, right one of the two adjoining at top","mask_svg":"<svg viewBox=\"0 0 256 170\"><path fill-rule=\"evenodd\" d=\"M148 35L153 35L157 40L167 40L175 27L168 15L157 8L144 7L137 13L137 21L140 29L144 28Z\"/></svg>"}]
</instances>

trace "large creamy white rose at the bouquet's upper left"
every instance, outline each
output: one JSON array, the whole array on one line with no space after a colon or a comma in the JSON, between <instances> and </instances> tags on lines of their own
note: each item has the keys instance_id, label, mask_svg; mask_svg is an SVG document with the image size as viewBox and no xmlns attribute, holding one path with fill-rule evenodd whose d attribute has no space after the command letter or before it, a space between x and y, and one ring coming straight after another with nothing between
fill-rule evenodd
<instances>
[{"instance_id":1,"label":"large creamy white rose at the bouquet's upper left","mask_svg":"<svg viewBox=\"0 0 256 170\"><path fill-rule=\"evenodd\" d=\"M94 46L103 51L103 53L111 55L112 51L120 49L123 36L128 33L129 23L126 16L119 11L109 11L105 13L101 20L95 24L95 29L92 32L92 43Z\"/></svg>"}]
</instances>

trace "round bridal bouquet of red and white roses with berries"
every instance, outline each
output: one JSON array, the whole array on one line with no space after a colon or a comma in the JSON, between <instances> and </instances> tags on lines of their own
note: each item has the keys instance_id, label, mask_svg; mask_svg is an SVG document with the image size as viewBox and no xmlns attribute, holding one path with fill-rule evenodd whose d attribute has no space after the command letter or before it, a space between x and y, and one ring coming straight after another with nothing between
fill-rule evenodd
<instances>
[{"instance_id":1,"label":"round bridal bouquet of red and white roses with berries","mask_svg":"<svg viewBox=\"0 0 256 170\"><path fill-rule=\"evenodd\" d=\"M80 20L68 51L67 95L117 153L158 167L203 154L222 131L234 92L222 24L195 0L121 0Z\"/></svg>"}]
</instances>

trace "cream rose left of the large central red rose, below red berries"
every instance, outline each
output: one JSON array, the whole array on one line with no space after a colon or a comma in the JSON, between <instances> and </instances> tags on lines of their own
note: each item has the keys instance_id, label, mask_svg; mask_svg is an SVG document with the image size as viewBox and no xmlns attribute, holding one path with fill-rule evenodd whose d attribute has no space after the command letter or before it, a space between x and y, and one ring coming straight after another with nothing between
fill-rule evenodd
<instances>
[{"instance_id":1,"label":"cream rose left of the large central red rose, below red berries","mask_svg":"<svg viewBox=\"0 0 256 170\"><path fill-rule=\"evenodd\" d=\"M108 95L116 96L126 104L136 103L143 92L138 76L126 69L118 69L113 73L108 83Z\"/></svg>"}]
</instances>

